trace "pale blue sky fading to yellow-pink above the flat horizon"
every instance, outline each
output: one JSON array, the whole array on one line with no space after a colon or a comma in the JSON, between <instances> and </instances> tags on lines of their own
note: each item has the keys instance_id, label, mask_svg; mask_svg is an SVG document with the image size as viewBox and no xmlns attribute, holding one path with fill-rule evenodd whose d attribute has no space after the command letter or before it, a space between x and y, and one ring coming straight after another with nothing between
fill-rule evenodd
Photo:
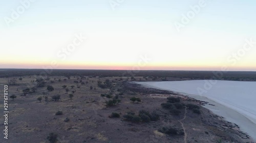
<instances>
[{"instance_id":1,"label":"pale blue sky fading to yellow-pink above the flat horizon","mask_svg":"<svg viewBox=\"0 0 256 143\"><path fill-rule=\"evenodd\" d=\"M256 71L256 1L0 0L0 68Z\"/></svg>"}]
</instances>

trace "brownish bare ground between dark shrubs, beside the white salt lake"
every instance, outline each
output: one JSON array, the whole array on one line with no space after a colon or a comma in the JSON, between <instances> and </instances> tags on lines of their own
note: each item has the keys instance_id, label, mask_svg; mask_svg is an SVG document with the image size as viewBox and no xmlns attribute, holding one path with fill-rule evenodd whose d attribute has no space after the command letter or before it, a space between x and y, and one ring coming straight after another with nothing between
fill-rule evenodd
<instances>
[{"instance_id":1,"label":"brownish bare ground between dark shrubs, beside the white salt lake","mask_svg":"<svg viewBox=\"0 0 256 143\"><path fill-rule=\"evenodd\" d=\"M19 77L14 77L19 78ZM55 79L54 79L55 78ZM61 81L58 81L58 79ZM249 136L239 131L239 127L232 123L227 123L221 117L211 113L208 109L201 107L201 114L197 115L186 108L179 116L170 115L170 112L161 107L161 103L166 102L169 96L180 97L184 104L194 103L198 105L207 104L195 99L178 95L173 92L156 89L143 88L137 84L118 81L119 77L108 77L113 80L113 95L119 94L118 89L123 91L119 96L121 103L112 107L106 107L105 101L109 99L101 97L100 94L110 93L110 89L101 89L97 86L97 81L104 81L107 78L86 78L82 81L86 83L81 88L75 88L76 92L71 100L69 94L75 85L74 80L78 76L71 76L71 79L63 81L64 76L52 76L47 81L47 85L52 85L54 91L48 92L46 87L37 88L35 93L20 96L23 90L28 87L33 77L23 77L18 81L18 85L9 86L9 95L17 96L13 101L9 98L9 121L8 140L3 136L0 142L49 142L47 136L54 132L58 134L58 142L251 142ZM143 78L143 77L137 77ZM0 85L7 84L6 78L0 78ZM70 92L66 94L62 85L67 85ZM90 89L90 87L96 88ZM37 98L43 97L42 92L47 92L49 99L51 96L60 94L58 102L39 102ZM3 88L1 88L3 93ZM130 101L131 97L141 98L140 103ZM3 96L0 98L0 107L3 111ZM122 117L126 112L135 112L144 109L150 112L156 111L160 115L160 120L149 123L132 123L125 121ZM56 116L57 111L62 111L63 115ZM112 112L118 112L120 118L109 118ZM69 122L64 120L69 118ZM0 127L4 129L4 120L0 119ZM184 130L184 135L167 135L158 131L162 126L174 126ZM3 134L2 134L3 135Z\"/></svg>"}]
</instances>

